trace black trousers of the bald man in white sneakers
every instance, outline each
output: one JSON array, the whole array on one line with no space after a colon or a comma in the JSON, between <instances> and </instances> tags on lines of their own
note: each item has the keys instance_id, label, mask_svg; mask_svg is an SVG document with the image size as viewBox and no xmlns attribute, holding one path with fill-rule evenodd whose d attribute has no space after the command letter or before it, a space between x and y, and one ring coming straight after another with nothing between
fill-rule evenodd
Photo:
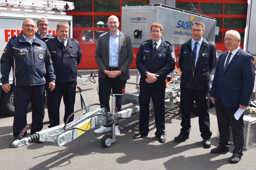
<instances>
[{"instance_id":1,"label":"black trousers of the bald man in white sneakers","mask_svg":"<svg viewBox=\"0 0 256 170\"><path fill-rule=\"evenodd\" d=\"M105 106L108 112L111 111L109 106L111 89L113 94L122 94L122 89L125 88L125 84L126 81L121 80L119 76L117 76L116 78L109 78L108 76L103 79L99 78L99 103ZM122 96L117 95L116 107L118 112L122 109L121 101ZM116 122L116 125L118 125L118 122Z\"/></svg>"}]
</instances>

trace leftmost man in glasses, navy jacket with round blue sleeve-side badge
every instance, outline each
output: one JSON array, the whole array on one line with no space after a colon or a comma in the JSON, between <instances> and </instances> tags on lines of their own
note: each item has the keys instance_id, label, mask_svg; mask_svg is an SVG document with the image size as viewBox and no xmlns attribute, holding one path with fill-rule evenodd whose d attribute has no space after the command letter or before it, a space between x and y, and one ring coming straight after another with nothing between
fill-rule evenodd
<instances>
[{"instance_id":1,"label":"leftmost man in glasses, navy jacket with round blue sleeve-side badge","mask_svg":"<svg viewBox=\"0 0 256 170\"><path fill-rule=\"evenodd\" d=\"M44 41L35 37L35 22L24 20L23 32L12 37L5 47L1 57L1 82L3 91L10 92L9 73L13 71L14 84L14 140L27 126L27 110L29 102L32 105L32 123L30 133L34 134L43 128L45 79L50 81L49 88L55 87L55 74L48 48ZM30 123L30 122L29 122ZM25 137L27 131L23 134ZM10 147L18 147L10 144Z\"/></svg>"}]
</instances>

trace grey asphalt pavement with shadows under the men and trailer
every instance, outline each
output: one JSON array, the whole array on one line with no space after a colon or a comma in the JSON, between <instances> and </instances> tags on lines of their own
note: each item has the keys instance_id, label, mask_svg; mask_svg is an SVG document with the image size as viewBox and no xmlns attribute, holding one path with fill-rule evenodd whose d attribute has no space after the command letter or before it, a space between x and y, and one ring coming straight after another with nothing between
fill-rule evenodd
<instances>
[{"instance_id":1,"label":"grey asphalt pavement with shadows under the men and trailer","mask_svg":"<svg viewBox=\"0 0 256 170\"><path fill-rule=\"evenodd\" d=\"M87 75L95 70L79 70L79 74ZM131 69L131 79L128 82L136 82L136 69ZM96 71L95 71L96 73ZM89 82L87 85L80 85L84 90L88 104L99 103L97 95L98 79L96 83ZM135 85L126 85L126 92L135 92ZM254 93L252 96L254 97ZM45 105L46 106L46 105ZM123 106L131 107L132 104ZM90 108L95 109L97 106ZM75 110L81 108L80 96L77 90ZM210 108L210 123L212 147L203 148L200 136L198 116L191 115L190 138L185 142L174 142L174 137L179 135L181 113L179 103L165 109L165 138L166 142L161 144L154 133L155 120L154 110L150 111L150 132L147 137L134 140L133 136L139 131L139 115L135 115L119 123L120 136L109 147L101 147L101 138L107 132L94 134L94 130L85 132L79 138L64 145L54 146L51 142L41 144L33 143L18 148L9 148L13 140L12 124L13 117L0 116L0 169L28 169L28 170L48 170L48 169L123 169L123 170L230 170L246 169L255 170L256 147L244 149L244 155L237 164L228 162L232 156L234 146L231 144L229 152L225 154L212 154L210 149L217 147L219 139L217 136L218 124L215 108ZM60 106L60 120L63 123L64 104ZM82 116L82 113L75 115L75 118ZM28 125L31 125L31 111L27 114ZM47 108L45 107L44 129L49 125ZM97 127L98 128L98 127ZM30 130L28 130L28 135Z\"/></svg>"}]
</instances>

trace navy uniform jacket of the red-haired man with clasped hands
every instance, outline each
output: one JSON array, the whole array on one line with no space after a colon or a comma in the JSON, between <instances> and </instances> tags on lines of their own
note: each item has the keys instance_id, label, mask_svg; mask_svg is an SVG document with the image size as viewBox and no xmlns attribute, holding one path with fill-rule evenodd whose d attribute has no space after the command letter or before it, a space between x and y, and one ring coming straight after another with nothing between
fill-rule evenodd
<instances>
[{"instance_id":1,"label":"navy uniform jacket of the red-haired man with clasped hands","mask_svg":"<svg viewBox=\"0 0 256 170\"><path fill-rule=\"evenodd\" d=\"M142 42L136 56L137 69L140 72L140 86L153 88L166 88L166 77L175 68L175 54L173 46L168 41L161 42L154 56L153 41L147 40ZM159 75L154 83L147 83L144 73L149 71Z\"/></svg>"}]
</instances>

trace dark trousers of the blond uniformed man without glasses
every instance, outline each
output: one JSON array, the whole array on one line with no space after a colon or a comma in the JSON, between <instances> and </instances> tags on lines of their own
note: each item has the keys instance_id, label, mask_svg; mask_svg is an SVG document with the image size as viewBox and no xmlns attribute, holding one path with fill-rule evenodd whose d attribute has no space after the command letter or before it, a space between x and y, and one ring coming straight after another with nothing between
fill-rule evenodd
<instances>
[{"instance_id":1,"label":"dark trousers of the blond uniformed man without glasses","mask_svg":"<svg viewBox=\"0 0 256 170\"><path fill-rule=\"evenodd\" d=\"M50 92L49 83L46 84L47 107L50 120L50 125L48 126L49 128L58 126L60 124L59 108L62 97L65 105L65 113L63 119L64 123L74 112L76 85L76 81L65 83L56 82L54 90ZM74 115L70 117L68 123L72 122L73 120Z\"/></svg>"}]
</instances>

